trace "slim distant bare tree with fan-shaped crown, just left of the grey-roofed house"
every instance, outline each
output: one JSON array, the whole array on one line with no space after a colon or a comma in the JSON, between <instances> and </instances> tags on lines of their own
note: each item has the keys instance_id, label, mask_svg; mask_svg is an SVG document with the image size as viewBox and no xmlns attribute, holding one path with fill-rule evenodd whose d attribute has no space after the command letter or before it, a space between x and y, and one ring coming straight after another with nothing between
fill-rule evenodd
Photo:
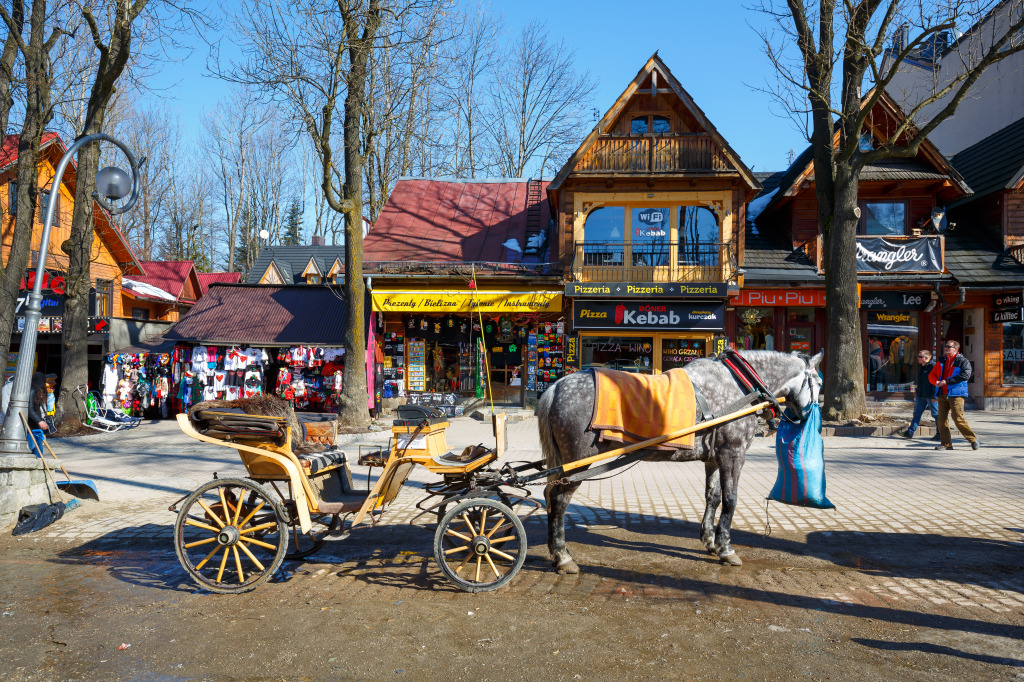
<instances>
[{"instance_id":1,"label":"slim distant bare tree with fan-shaped crown, just left of the grey-roofed house","mask_svg":"<svg viewBox=\"0 0 1024 682\"><path fill-rule=\"evenodd\" d=\"M239 229L250 184L253 138L270 120L270 112L239 89L203 120L204 142L217 169L217 197L224 220L227 271L234 272Z\"/></svg>"}]
</instances>

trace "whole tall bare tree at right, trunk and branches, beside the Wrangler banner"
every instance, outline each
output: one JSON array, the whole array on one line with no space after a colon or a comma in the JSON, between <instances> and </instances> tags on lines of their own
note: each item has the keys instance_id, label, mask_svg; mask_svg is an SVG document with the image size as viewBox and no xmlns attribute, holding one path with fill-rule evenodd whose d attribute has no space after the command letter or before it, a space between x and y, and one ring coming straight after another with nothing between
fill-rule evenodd
<instances>
[{"instance_id":1,"label":"whole tall bare tree at right, trunk and branches, beside the Wrangler banner","mask_svg":"<svg viewBox=\"0 0 1024 682\"><path fill-rule=\"evenodd\" d=\"M779 77L774 92L791 114L809 115L818 225L824 242L827 419L857 417L865 406L856 271L860 173L884 159L915 157L928 134L955 113L985 69L1024 50L1024 44L1012 43L1024 28L1024 15L1018 13L997 39L958 45L964 68L906 112L887 139L862 151L858 142L865 123L903 59L957 24L976 23L996 4L994 0L786 0L784 4L765 0L761 6L773 22L762 38ZM897 29L906 38L887 60L886 46ZM874 87L864 95L867 78Z\"/></svg>"}]
</instances>

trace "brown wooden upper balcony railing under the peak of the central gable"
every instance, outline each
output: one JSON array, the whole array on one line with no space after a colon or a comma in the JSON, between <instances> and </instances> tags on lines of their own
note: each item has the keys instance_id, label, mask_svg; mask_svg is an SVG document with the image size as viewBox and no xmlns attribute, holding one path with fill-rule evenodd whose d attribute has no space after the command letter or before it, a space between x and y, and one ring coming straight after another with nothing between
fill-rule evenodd
<instances>
[{"instance_id":1,"label":"brown wooden upper balcony railing under the peak of the central gable","mask_svg":"<svg viewBox=\"0 0 1024 682\"><path fill-rule=\"evenodd\" d=\"M722 150L707 133L600 137L577 164L578 173L726 171Z\"/></svg>"}]
</instances>

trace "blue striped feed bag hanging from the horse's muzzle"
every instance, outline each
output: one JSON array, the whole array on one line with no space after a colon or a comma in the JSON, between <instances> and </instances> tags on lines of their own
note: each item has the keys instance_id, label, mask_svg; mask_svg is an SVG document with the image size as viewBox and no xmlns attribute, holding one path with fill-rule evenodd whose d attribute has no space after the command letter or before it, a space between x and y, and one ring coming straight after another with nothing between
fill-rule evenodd
<instances>
[{"instance_id":1,"label":"blue striped feed bag hanging from the horse's muzzle","mask_svg":"<svg viewBox=\"0 0 1024 682\"><path fill-rule=\"evenodd\" d=\"M835 509L825 497L825 454L821 440L821 408L811 406L802 424L783 421L775 432L778 477L769 500L787 505Z\"/></svg>"}]
</instances>

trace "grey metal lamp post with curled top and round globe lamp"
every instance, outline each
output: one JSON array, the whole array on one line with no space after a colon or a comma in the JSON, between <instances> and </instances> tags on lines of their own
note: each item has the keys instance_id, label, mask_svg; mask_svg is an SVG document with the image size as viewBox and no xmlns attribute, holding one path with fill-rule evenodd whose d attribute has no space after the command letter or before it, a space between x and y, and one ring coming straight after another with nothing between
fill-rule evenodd
<instances>
[{"instance_id":1,"label":"grey metal lamp post with curled top and round globe lamp","mask_svg":"<svg viewBox=\"0 0 1024 682\"><path fill-rule=\"evenodd\" d=\"M138 163L135 157L124 144L124 142L103 133L95 133L80 137L71 145L71 148L60 158L56 172L53 175L53 184L50 193L60 190L60 181L63 178L65 169L71 163L75 153L89 142L105 140L120 147L128 163L131 164L131 178L128 173L113 166L101 169L96 173L96 190L92 193L92 199L111 215L119 215L131 209L138 199ZM128 203L121 207L114 207L108 204L106 199L118 200L131 197ZM14 369L14 385L11 388L10 404L7 407L7 415L4 419L3 429L0 430L0 452L3 453L27 453L29 445L26 441L25 426L18 414L28 418L29 389L32 382L33 358L36 355L36 338L39 335L39 318L42 317L41 293L43 284L43 272L46 270L46 250L50 244L50 226L53 224L53 211L56 207L55 201L47 202L46 215L43 218L43 235L39 240L39 262L36 264L36 282L32 287L32 294L29 295L29 304L25 311L25 332L22 334L22 344L17 352L17 366Z\"/></svg>"}]
</instances>

